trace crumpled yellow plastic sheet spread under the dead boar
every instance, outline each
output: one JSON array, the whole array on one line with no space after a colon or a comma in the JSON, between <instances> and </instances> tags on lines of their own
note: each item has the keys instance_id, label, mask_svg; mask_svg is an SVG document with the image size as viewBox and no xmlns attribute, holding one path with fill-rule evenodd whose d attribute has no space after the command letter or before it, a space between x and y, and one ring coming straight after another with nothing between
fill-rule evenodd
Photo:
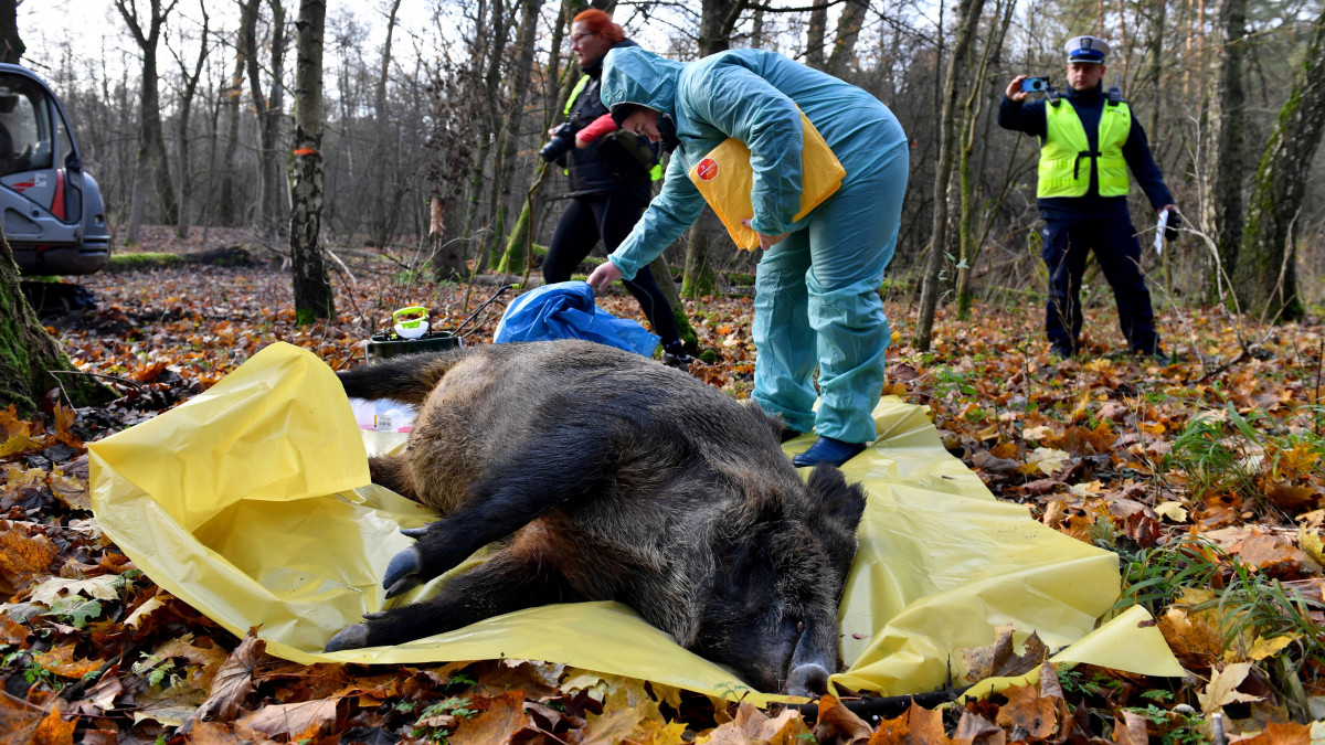
<instances>
[{"instance_id":1,"label":"crumpled yellow plastic sheet spread under the dead boar","mask_svg":"<svg viewBox=\"0 0 1325 745\"><path fill-rule=\"evenodd\" d=\"M1035 631L1051 648L1067 646L1063 661L1182 675L1143 610L1096 630L1118 595L1112 553L994 500L922 408L885 398L874 416L878 441L844 468L869 501L841 603L851 668L836 684L884 695L939 688L949 660L963 672L961 648L990 644L1006 623L1018 642ZM401 441L360 432L331 370L276 343L186 404L93 443L93 509L160 587L236 635L260 624L268 651L298 663L537 659L774 699L617 603L529 608L396 647L322 654L333 634L386 604L382 574L411 544L399 530L433 518L368 481L367 448Z\"/></svg>"}]
</instances>

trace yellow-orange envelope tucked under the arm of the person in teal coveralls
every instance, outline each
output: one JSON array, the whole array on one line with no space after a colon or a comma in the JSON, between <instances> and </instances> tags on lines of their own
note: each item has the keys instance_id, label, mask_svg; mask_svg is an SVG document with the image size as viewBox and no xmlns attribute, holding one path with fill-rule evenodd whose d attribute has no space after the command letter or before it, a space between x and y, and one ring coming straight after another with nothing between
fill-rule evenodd
<instances>
[{"instance_id":1,"label":"yellow-orange envelope tucked under the arm of the person in teal coveralls","mask_svg":"<svg viewBox=\"0 0 1325 745\"><path fill-rule=\"evenodd\" d=\"M799 111L799 109L796 109ZM810 123L804 111L800 113L800 212L792 217L799 220L832 196L847 170L841 167L819 130ZM759 248L759 235L741 224L741 220L754 217L754 168L750 167L750 148L739 139L727 138L709 151L688 171L704 200L718 215L727 233L738 248L754 251Z\"/></svg>"}]
</instances>

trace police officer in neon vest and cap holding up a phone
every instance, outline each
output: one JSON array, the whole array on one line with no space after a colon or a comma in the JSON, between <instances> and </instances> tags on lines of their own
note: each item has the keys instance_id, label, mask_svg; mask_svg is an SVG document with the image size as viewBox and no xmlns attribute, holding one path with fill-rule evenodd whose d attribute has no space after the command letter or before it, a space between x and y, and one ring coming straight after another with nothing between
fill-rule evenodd
<instances>
[{"instance_id":1,"label":"police officer in neon vest and cap holding up a phone","mask_svg":"<svg viewBox=\"0 0 1325 745\"><path fill-rule=\"evenodd\" d=\"M1080 350L1081 274L1094 252L1118 305L1118 325L1134 353L1163 361L1154 329L1150 290L1141 276L1141 245L1128 213L1128 170L1157 212L1178 207L1150 155L1146 133L1117 89L1102 89L1109 45L1094 36L1067 42L1068 90L1026 102L1026 76L1008 86L998 111L1003 129L1040 138L1036 198L1044 219L1044 262L1049 269L1045 331L1053 351Z\"/></svg>"}]
</instances>

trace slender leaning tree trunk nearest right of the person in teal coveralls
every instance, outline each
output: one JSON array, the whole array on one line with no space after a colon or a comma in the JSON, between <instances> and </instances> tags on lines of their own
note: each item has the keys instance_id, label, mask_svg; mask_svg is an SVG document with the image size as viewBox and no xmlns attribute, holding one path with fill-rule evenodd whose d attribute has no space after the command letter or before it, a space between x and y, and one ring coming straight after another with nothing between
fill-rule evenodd
<instances>
[{"instance_id":1,"label":"slender leaning tree trunk nearest right of the person in teal coveralls","mask_svg":"<svg viewBox=\"0 0 1325 745\"><path fill-rule=\"evenodd\" d=\"M957 97L962 87L962 73L970 57L971 40L979 28L980 13L984 9L984 0L961 0L957 29L957 41L953 44L953 53L947 60L947 76L943 84L943 113L938 121L938 171L934 174L934 228L929 241L929 260L925 264L925 277L921 290L920 318L916 323L916 334L912 345L921 350L929 350L930 337L934 331L934 313L938 308L938 285L943 268L943 257L947 253L947 187L953 175L953 151L957 138L953 133L953 119L955 117Z\"/></svg>"}]
</instances>

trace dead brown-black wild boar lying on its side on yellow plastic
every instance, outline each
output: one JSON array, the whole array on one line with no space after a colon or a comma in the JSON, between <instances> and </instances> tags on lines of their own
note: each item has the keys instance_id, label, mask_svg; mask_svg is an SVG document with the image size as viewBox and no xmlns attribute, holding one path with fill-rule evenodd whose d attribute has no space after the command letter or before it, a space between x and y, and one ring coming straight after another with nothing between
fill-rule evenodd
<instances>
[{"instance_id":1,"label":"dead brown-black wild boar lying on its side on yellow plastic","mask_svg":"<svg viewBox=\"0 0 1325 745\"><path fill-rule=\"evenodd\" d=\"M865 497L828 465L802 481L758 407L579 341L399 357L339 376L350 396L420 408L407 449L370 469L441 518L407 530L419 542L391 559L387 595L500 549L327 651L619 601L761 691L824 691Z\"/></svg>"}]
</instances>

